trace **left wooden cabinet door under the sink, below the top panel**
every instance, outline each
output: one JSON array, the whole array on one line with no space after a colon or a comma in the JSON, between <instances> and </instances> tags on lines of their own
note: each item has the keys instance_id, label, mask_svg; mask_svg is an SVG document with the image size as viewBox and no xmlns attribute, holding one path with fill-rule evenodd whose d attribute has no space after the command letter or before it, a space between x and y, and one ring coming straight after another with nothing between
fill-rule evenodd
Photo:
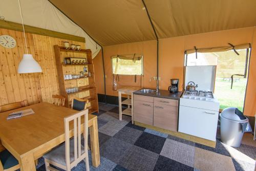
<instances>
[{"instance_id":1,"label":"left wooden cabinet door under the sink, below the top panel","mask_svg":"<svg viewBox=\"0 0 256 171\"><path fill-rule=\"evenodd\" d=\"M153 125L153 103L134 100L133 116L134 121Z\"/></svg>"}]
</instances>

